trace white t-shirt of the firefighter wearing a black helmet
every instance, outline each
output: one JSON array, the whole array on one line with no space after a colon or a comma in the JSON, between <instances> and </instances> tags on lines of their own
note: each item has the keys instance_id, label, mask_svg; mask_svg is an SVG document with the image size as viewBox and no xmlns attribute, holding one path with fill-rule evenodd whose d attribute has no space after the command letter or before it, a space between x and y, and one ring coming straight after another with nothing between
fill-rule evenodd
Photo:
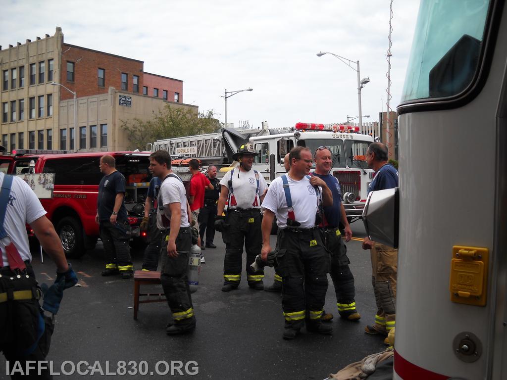
<instances>
[{"instance_id":1,"label":"white t-shirt of the firefighter wearing a black helmet","mask_svg":"<svg viewBox=\"0 0 507 380\"><path fill-rule=\"evenodd\" d=\"M224 175L224 178L220 181L221 185L229 188L229 180L231 179L231 171L227 172ZM236 205L231 206L231 208L261 208L261 201L259 199L259 194L263 195L266 191L268 185L266 184L266 180L259 173L259 193L256 193L257 190L257 178L255 176L255 171L253 168L248 170L247 172L242 172L239 170L239 167L234 168L234 173L232 178L232 188L234 191L234 198L236 199ZM238 178L239 174L239 178ZM257 203L255 202L257 200Z\"/></svg>"}]
</instances>

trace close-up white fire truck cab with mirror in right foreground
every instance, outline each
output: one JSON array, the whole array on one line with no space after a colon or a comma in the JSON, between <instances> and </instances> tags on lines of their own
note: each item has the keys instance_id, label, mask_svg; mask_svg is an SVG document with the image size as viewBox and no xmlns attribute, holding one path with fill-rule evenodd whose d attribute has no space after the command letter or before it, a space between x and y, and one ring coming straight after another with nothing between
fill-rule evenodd
<instances>
[{"instance_id":1,"label":"close-up white fire truck cab with mirror in right foreground","mask_svg":"<svg viewBox=\"0 0 507 380\"><path fill-rule=\"evenodd\" d=\"M365 212L372 239L399 247L395 379L507 379L504 3L420 5L400 186Z\"/></svg>"}]
</instances>

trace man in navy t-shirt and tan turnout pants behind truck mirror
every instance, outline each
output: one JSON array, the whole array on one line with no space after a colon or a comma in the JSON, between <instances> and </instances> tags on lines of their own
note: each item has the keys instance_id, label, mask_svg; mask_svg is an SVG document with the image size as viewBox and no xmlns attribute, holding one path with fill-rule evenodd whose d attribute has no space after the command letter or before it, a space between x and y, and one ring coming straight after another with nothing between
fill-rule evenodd
<instances>
[{"instance_id":1,"label":"man in navy t-shirt and tan turnout pants behind truck mirror","mask_svg":"<svg viewBox=\"0 0 507 380\"><path fill-rule=\"evenodd\" d=\"M368 166L375 170L375 177L370 183L368 193L398 186L398 172L387 163L387 147L380 143L370 144L366 152ZM372 284L377 302L375 323L367 325L368 334L387 336L395 326L396 277L398 250L384 244L376 243L366 237L363 249L370 249L372 260ZM385 338L384 343L389 345Z\"/></svg>"}]
</instances>

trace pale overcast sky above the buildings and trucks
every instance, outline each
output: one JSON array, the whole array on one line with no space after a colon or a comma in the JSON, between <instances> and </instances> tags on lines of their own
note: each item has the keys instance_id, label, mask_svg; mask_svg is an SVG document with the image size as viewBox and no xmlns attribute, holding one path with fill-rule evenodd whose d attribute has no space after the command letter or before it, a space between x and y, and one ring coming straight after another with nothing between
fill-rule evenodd
<instances>
[{"instance_id":1,"label":"pale overcast sky above the buildings and trucks","mask_svg":"<svg viewBox=\"0 0 507 380\"><path fill-rule=\"evenodd\" d=\"M3 0L0 45L55 33L89 49L144 61L144 70L184 81L183 101L260 127L339 123L358 116L357 74L331 52L360 61L363 122L386 110L389 0L186 0L107 2ZM44 4L44 6L42 6ZM400 103L419 8L392 5L391 108ZM355 62L353 63L355 68ZM78 94L79 96L79 94ZM355 120L357 122L357 120Z\"/></svg>"}]
</instances>

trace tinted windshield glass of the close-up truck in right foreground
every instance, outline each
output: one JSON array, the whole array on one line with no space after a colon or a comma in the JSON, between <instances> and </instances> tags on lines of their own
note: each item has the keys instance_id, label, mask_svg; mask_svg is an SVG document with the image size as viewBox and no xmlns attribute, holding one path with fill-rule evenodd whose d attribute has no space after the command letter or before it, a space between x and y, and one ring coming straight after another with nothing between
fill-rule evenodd
<instances>
[{"instance_id":1,"label":"tinted windshield glass of the close-up truck in right foreground","mask_svg":"<svg viewBox=\"0 0 507 380\"><path fill-rule=\"evenodd\" d=\"M453 96L472 83L489 0L422 0L402 102Z\"/></svg>"}]
</instances>

